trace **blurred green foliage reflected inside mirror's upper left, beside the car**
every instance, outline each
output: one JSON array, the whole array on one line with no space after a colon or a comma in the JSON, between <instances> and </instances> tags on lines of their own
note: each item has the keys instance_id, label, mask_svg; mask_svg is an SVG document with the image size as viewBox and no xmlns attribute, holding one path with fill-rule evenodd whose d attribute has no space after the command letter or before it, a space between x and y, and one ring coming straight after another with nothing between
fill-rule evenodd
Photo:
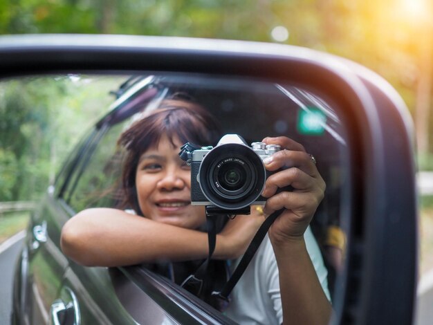
<instances>
[{"instance_id":1,"label":"blurred green foliage reflected inside mirror's upper left, beside the car","mask_svg":"<svg viewBox=\"0 0 433 325\"><path fill-rule=\"evenodd\" d=\"M33 200L45 192L123 80L68 75L1 82L0 201Z\"/></svg>"}]
</instances>

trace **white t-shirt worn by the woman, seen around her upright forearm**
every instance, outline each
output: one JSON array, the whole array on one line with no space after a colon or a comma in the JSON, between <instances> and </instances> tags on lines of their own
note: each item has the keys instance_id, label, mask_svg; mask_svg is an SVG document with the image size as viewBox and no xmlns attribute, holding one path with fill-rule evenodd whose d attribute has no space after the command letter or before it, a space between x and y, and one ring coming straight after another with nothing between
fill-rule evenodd
<instances>
[{"instance_id":1,"label":"white t-shirt worn by the woman, seen around her upright forearm","mask_svg":"<svg viewBox=\"0 0 433 325\"><path fill-rule=\"evenodd\" d=\"M324 266L319 246L309 227L304 234L304 239L317 278L326 297L331 300L326 278L328 271ZM239 260L237 259L232 263L232 271L239 263ZM235 322L239 324L282 324L283 310L279 292L277 261L267 235L241 279L234 286L230 297L230 304L224 314Z\"/></svg>"}]
</instances>

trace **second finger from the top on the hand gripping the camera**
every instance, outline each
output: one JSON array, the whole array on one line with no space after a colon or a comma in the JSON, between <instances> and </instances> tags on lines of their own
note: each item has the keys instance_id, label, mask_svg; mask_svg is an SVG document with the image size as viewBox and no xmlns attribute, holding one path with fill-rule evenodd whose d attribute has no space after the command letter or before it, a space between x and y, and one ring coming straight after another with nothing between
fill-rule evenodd
<instances>
[{"instance_id":1,"label":"second finger from the top on the hand gripping the camera","mask_svg":"<svg viewBox=\"0 0 433 325\"><path fill-rule=\"evenodd\" d=\"M283 149L277 151L272 156L263 160L263 163L269 171L276 171L282 168L297 167L310 176L317 176L319 172L311 160L310 155L305 151L293 151Z\"/></svg>"}]
</instances>

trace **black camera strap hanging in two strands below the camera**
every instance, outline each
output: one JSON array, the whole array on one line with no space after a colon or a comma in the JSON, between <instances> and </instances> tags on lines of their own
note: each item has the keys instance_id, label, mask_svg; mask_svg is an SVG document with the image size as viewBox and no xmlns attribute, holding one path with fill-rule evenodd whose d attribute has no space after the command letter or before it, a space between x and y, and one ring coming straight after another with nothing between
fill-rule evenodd
<instances>
[{"instance_id":1,"label":"black camera strap hanging in two strands below the camera","mask_svg":"<svg viewBox=\"0 0 433 325\"><path fill-rule=\"evenodd\" d=\"M245 254L241 258L237 268L234 270L232 276L225 283L221 291L214 291L212 295L223 299L224 301L229 301L228 296L232 292L234 286L236 286L237 282L245 272L248 264L250 263L252 257L254 257L255 252L259 249L261 242L263 241L266 233L268 232L270 225L273 224L275 219L282 214L284 209L278 210L273 214L270 214L268 218L265 219L264 223L261 224L259 230L257 230L254 238L252 239L250 245L248 246ZM210 259L212 258L212 254L215 250L216 245L216 226L215 226L215 215L214 214L206 214L207 223L208 223L208 243L209 243L209 254L208 258L201 264L201 266L196 270L194 275L190 275L187 277L183 284L181 285L186 290L190 291L196 296L201 295L201 290L203 288L203 283L206 281L205 277L208 274L208 265Z\"/></svg>"}]
</instances>

